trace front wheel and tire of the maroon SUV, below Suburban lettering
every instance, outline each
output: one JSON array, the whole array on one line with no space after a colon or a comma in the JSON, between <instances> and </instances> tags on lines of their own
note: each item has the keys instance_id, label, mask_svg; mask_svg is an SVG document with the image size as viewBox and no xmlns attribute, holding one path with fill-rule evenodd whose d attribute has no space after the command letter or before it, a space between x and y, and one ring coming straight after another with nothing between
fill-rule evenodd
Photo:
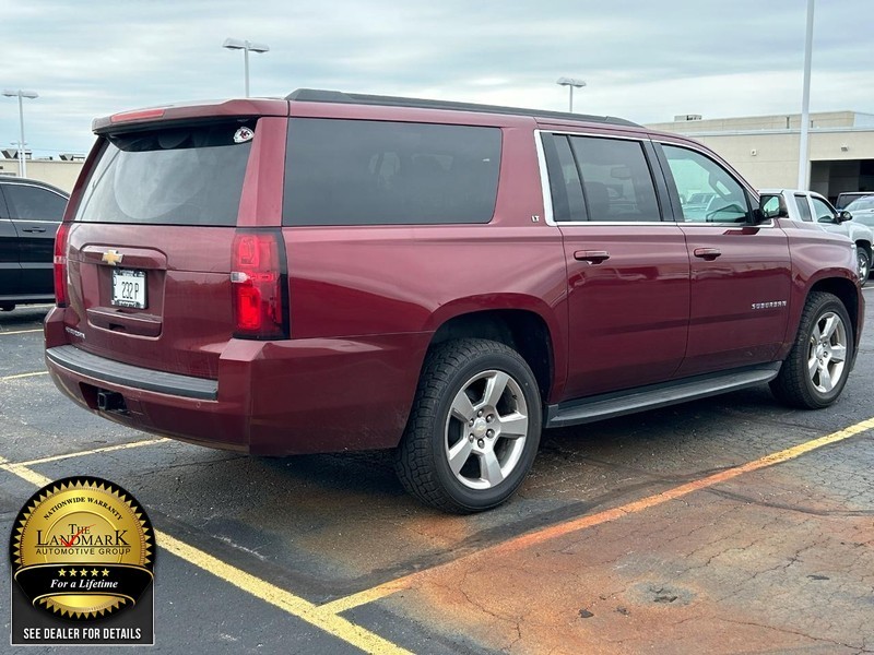
<instances>
[{"instance_id":1,"label":"front wheel and tire of the maroon SUV, below Suburban lettering","mask_svg":"<svg viewBox=\"0 0 874 655\"><path fill-rule=\"evenodd\" d=\"M792 407L828 407L843 391L852 360L853 329L847 309L837 296L814 291L771 391Z\"/></svg>"}]
</instances>

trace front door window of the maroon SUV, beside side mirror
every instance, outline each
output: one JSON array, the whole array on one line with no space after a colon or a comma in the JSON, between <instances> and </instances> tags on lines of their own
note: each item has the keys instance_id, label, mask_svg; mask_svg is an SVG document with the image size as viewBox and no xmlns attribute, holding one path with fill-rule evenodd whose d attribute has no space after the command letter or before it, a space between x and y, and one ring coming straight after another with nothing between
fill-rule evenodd
<instances>
[{"instance_id":1,"label":"front door window of the maroon SUV, beside side mirror","mask_svg":"<svg viewBox=\"0 0 874 655\"><path fill-rule=\"evenodd\" d=\"M743 187L722 166L685 147L662 145L689 223L747 223L752 219Z\"/></svg>"}]
</instances>

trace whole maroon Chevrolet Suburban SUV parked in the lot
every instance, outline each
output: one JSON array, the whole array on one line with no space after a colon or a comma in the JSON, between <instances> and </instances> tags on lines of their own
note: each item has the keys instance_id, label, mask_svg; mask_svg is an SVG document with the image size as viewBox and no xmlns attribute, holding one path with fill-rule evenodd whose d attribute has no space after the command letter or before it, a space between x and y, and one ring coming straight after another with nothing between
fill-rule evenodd
<instances>
[{"instance_id":1,"label":"whole maroon Chevrolet Suburban SUV parked in the lot","mask_svg":"<svg viewBox=\"0 0 874 655\"><path fill-rule=\"evenodd\" d=\"M765 382L825 407L853 366L849 241L675 134L308 90L94 131L46 360L127 426L395 449L411 492L465 512L516 490L542 428Z\"/></svg>"}]
</instances>

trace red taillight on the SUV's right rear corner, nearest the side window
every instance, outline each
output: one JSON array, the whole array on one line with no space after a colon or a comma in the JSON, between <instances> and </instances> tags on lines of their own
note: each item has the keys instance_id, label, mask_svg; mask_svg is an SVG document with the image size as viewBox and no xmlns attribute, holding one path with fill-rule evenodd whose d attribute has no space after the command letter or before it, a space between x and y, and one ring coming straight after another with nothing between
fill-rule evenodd
<instances>
[{"instance_id":1,"label":"red taillight on the SUV's right rear corner, nearest the side window","mask_svg":"<svg viewBox=\"0 0 874 655\"><path fill-rule=\"evenodd\" d=\"M238 231L234 237L231 269L234 336L285 338L288 336L283 287L284 252L274 231Z\"/></svg>"}]
</instances>

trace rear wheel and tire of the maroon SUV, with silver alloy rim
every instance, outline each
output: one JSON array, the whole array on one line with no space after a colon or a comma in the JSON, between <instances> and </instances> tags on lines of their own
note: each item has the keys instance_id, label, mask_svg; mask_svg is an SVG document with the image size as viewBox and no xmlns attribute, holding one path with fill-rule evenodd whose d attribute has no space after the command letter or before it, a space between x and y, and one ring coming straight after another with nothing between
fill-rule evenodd
<instances>
[{"instance_id":1,"label":"rear wheel and tire of the maroon SUV, with silver alloy rim","mask_svg":"<svg viewBox=\"0 0 874 655\"><path fill-rule=\"evenodd\" d=\"M516 350L482 338L446 342L425 360L395 471L429 505L488 510L522 484L540 432L538 382Z\"/></svg>"}]
</instances>

